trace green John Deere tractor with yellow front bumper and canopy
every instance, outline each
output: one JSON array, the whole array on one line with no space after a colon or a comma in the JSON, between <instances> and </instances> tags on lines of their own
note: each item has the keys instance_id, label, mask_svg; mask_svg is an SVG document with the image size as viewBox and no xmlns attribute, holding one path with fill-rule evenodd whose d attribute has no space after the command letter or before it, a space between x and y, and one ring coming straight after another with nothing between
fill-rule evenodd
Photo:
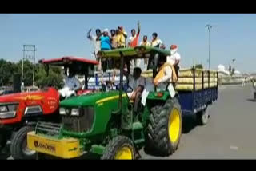
<instances>
[{"instance_id":1,"label":"green John Deere tractor with yellow front bumper and canopy","mask_svg":"<svg viewBox=\"0 0 256 171\"><path fill-rule=\"evenodd\" d=\"M66 159L84 153L98 154L101 159L136 159L143 147L146 153L160 156L174 153L182 133L178 94L171 97L168 90L152 91L146 97L146 105L134 113L134 101L129 100L123 89L125 63L134 58L149 58L154 77L157 58L170 55L170 51L137 46L101 51L99 55L119 64L119 89L62 101L62 124L38 122L36 129L27 134L28 148L37 151L38 157Z\"/></svg>"}]
</instances>

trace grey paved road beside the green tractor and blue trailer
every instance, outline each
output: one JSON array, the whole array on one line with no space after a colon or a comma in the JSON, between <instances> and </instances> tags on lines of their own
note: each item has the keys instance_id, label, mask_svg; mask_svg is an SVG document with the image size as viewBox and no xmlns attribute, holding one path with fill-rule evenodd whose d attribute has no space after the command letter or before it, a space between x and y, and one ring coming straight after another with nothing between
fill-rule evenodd
<instances>
[{"instance_id":1,"label":"grey paved road beside the green tractor and blue trailer","mask_svg":"<svg viewBox=\"0 0 256 171\"><path fill-rule=\"evenodd\" d=\"M170 157L154 157L141 151L142 159L256 158L256 101L251 86L219 88L218 101L210 106L210 121L196 126L186 118L178 150ZM11 159L11 157L8 157Z\"/></svg>"}]
</instances>

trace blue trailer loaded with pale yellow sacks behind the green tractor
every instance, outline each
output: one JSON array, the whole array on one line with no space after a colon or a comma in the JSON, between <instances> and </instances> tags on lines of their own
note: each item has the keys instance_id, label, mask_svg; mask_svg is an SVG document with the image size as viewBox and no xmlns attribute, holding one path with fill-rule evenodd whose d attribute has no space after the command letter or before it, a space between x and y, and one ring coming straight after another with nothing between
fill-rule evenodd
<instances>
[{"instance_id":1,"label":"blue trailer loaded with pale yellow sacks behind the green tractor","mask_svg":"<svg viewBox=\"0 0 256 171\"><path fill-rule=\"evenodd\" d=\"M142 72L142 77L152 78L152 71ZM196 115L199 125L206 125L207 108L218 100L218 71L197 68L182 69L175 85L182 116Z\"/></svg>"}]
</instances>

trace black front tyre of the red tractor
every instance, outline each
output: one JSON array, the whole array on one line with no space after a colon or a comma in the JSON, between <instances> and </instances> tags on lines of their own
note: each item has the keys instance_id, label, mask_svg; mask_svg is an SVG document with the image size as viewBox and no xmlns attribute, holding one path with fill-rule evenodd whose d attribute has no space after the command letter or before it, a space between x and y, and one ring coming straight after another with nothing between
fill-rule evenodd
<instances>
[{"instance_id":1,"label":"black front tyre of the red tractor","mask_svg":"<svg viewBox=\"0 0 256 171\"><path fill-rule=\"evenodd\" d=\"M10 154L14 159L36 159L36 152L26 147L26 133L32 130L33 127L25 126L14 133L10 142Z\"/></svg>"}]
</instances>

